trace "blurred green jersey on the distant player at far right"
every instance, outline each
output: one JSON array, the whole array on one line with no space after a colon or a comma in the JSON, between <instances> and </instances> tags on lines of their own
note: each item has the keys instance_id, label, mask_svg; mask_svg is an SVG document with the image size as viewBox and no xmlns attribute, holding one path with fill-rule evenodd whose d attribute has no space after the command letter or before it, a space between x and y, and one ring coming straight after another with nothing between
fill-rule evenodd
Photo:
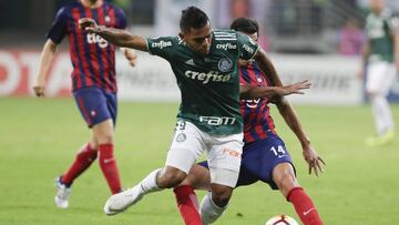
<instances>
[{"instance_id":1,"label":"blurred green jersey on the distant player at far right","mask_svg":"<svg viewBox=\"0 0 399 225\"><path fill-rule=\"evenodd\" d=\"M369 62L393 61L393 40L391 33L398 29L398 18L389 11L370 13L366 20L366 34L370 43Z\"/></svg>"}]
</instances>

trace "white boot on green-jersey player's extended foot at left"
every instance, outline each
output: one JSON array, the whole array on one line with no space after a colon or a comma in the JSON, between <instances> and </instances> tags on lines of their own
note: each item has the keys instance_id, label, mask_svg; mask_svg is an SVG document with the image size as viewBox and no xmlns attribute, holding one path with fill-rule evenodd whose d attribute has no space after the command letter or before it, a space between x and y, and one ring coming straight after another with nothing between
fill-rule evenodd
<instances>
[{"instance_id":1,"label":"white boot on green-jersey player's extended foot at left","mask_svg":"<svg viewBox=\"0 0 399 225\"><path fill-rule=\"evenodd\" d=\"M112 195L104 205L104 213L109 216L122 213L130 206L137 203L144 195L141 185L136 185L130 190Z\"/></svg>"}]
</instances>

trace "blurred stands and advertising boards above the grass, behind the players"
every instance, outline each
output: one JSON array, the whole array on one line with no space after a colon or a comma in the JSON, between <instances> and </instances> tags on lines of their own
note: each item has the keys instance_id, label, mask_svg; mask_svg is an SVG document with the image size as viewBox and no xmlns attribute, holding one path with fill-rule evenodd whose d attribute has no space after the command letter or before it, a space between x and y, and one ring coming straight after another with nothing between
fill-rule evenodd
<instances>
[{"instance_id":1,"label":"blurred stands and advertising boards above the grass, behind the players","mask_svg":"<svg viewBox=\"0 0 399 225\"><path fill-rule=\"evenodd\" d=\"M0 1L0 96L31 95L30 84L38 68L39 51L58 9L73 0ZM369 11L368 0L113 0L125 10L130 30L144 37L174 35L181 9L204 9L214 28L228 28L236 17L260 23L260 44L269 52L286 82L310 79L314 89L296 98L310 104L360 104L359 70L361 28ZM399 9L396 0L387 0ZM50 72L48 95L68 95L71 63L63 42ZM157 67L153 67L157 64ZM339 67L337 67L339 65ZM123 60L117 65L120 98L141 101L178 101L168 64L141 55L137 68ZM162 92L160 92L162 88ZM399 101L399 82L391 101Z\"/></svg>"}]
</instances>

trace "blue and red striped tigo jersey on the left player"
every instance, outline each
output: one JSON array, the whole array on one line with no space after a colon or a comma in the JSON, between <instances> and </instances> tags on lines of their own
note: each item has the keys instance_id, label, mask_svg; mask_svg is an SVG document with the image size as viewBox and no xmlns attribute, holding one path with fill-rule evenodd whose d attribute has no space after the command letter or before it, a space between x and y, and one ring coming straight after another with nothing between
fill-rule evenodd
<instances>
[{"instance_id":1,"label":"blue and red striped tigo jersey on the left player","mask_svg":"<svg viewBox=\"0 0 399 225\"><path fill-rule=\"evenodd\" d=\"M62 7L47 37L60 43L66 35L72 71L72 90L98 86L109 92L116 92L115 47L96 34L79 28L79 19L92 18L100 25L126 28L123 11L109 2L99 8L84 7L80 1Z\"/></svg>"}]
</instances>

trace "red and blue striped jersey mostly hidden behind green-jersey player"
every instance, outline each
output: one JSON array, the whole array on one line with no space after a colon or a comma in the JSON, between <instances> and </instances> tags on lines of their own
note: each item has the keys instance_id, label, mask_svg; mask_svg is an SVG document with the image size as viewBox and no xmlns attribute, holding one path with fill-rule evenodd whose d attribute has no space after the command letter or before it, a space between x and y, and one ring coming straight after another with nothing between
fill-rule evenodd
<instances>
[{"instance_id":1,"label":"red and blue striped jersey mostly hidden behind green-jersey player","mask_svg":"<svg viewBox=\"0 0 399 225\"><path fill-rule=\"evenodd\" d=\"M263 72L256 62L252 61L247 65L239 67L239 82L245 85L269 86ZM269 114L267 99L242 100L241 110L244 120L244 142L266 139L267 131L274 132L274 122Z\"/></svg>"}]
</instances>

